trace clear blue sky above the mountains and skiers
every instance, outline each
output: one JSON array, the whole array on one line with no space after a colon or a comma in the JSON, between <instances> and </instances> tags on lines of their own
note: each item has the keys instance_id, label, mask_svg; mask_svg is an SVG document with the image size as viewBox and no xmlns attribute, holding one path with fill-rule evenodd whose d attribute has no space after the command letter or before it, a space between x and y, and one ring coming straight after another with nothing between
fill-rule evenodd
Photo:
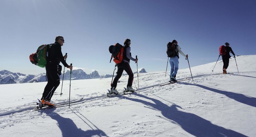
<instances>
[{"instance_id":1,"label":"clear blue sky above the mountains and skiers","mask_svg":"<svg viewBox=\"0 0 256 137\"><path fill-rule=\"evenodd\" d=\"M56 35L65 39L67 63L86 73L112 74L108 46L126 38L138 68L148 72L165 71L166 43L173 39L190 66L216 61L225 42L236 55L255 54L255 5L255 0L0 0L0 70L45 72L28 56ZM136 64L130 65L136 71ZM187 67L181 56L179 68Z\"/></svg>"}]
</instances>

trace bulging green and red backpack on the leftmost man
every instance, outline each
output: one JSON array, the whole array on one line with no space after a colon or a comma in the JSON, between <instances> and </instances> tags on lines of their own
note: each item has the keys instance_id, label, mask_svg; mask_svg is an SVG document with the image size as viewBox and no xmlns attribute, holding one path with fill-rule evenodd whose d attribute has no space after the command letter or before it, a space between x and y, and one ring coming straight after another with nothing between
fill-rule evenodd
<instances>
[{"instance_id":1,"label":"bulging green and red backpack on the leftmost man","mask_svg":"<svg viewBox=\"0 0 256 137\"><path fill-rule=\"evenodd\" d=\"M52 44L42 44L40 45L35 53L29 55L29 60L32 64L44 67L47 63L46 56L48 54L48 48Z\"/></svg>"}]
</instances>

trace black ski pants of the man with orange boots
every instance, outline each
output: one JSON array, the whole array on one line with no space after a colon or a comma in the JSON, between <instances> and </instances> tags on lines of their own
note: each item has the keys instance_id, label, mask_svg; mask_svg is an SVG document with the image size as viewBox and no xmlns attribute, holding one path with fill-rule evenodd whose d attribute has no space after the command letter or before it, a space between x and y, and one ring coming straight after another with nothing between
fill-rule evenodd
<instances>
[{"instance_id":1,"label":"black ski pants of the man with orange boots","mask_svg":"<svg viewBox=\"0 0 256 137\"><path fill-rule=\"evenodd\" d=\"M58 64L47 64L45 66L46 69L46 77L47 77L47 84L44 87L42 98L45 100L50 100L54 91L59 85L59 67Z\"/></svg>"}]
</instances>

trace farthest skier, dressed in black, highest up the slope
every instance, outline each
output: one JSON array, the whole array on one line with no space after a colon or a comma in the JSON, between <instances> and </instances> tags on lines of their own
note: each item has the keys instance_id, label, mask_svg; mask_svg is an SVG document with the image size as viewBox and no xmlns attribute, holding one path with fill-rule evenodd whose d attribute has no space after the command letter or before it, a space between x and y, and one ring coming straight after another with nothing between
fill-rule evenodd
<instances>
[{"instance_id":1,"label":"farthest skier, dressed in black, highest up the slope","mask_svg":"<svg viewBox=\"0 0 256 137\"><path fill-rule=\"evenodd\" d=\"M232 50L232 48L229 46L229 43L228 42L225 42L225 55L222 55L222 61L223 61L223 74L226 74L226 69L228 67L228 64L229 64L229 58L231 57L230 56L230 52L234 55L234 52Z\"/></svg>"}]
</instances>

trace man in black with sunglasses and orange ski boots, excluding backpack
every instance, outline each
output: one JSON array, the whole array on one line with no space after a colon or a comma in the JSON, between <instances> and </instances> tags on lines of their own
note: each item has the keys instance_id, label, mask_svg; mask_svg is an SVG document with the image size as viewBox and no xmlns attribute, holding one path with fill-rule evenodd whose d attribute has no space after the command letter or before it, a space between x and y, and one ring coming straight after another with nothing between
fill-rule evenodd
<instances>
[{"instance_id":1,"label":"man in black with sunglasses and orange ski boots, excluding backpack","mask_svg":"<svg viewBox=\"0 0 256 137\"><path fill-rule=\"evenodd\" d=\"M56 36L54 44L48 48L48 54L46 56L47 63L45 66L47 84L42 93L41 104L55 106L51 97L59 85L59 75L61 74L61 65L59 63L61 62L65 67L72 70L72 65L68 65L65 61L66 56L62 55L61 46L63 43L63 36Z\"/></svg>"}]
</instances>

